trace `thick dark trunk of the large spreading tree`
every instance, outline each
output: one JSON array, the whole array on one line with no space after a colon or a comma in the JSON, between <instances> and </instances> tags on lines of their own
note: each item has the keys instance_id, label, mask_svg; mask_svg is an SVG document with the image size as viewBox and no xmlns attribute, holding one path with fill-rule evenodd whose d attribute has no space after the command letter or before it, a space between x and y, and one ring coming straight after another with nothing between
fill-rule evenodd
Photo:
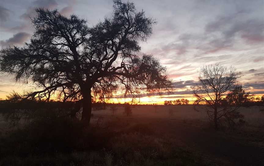
<instances>
[{"instance_id":1,"label":"thick dark trunk of the large spreading tree","mask_svg":"<svg viewBox=\"0 0 264 166\"><path fill-rule=\"evenodd\" d=\"M83 101L82 101L82 121L89 125L91 119L92 112L92 96L91 89L88 89L85 93L83 93Z\"/></svg>"}]
</instances>

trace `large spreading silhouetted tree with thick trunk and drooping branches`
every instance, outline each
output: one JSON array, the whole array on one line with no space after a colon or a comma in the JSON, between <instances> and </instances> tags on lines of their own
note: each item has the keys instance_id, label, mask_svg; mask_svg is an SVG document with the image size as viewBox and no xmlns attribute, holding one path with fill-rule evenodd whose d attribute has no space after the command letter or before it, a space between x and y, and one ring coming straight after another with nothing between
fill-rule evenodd
<instances>
[{"instance_id":1,"label":"large spreading silhouetted tree with thick trunk and drooping branches","mask_svg":"<svg viewBox=\"0 0 264 166\"><path fill-rule=\"evenodd\" d=\"M76 15L36 9L30 42L1 50L1 72L36 83L41 90L28 92L26 99L49 100L58 93L63 101L82 100L82 120L88 123L92 94L96 98L102 87L111 92L123 85L125 96L170 88L159 60L138 55L139 42L152 34L155 21L131 2L114 0L113 9L111 17L91 28Z\"/></svg>"}]
</instances>

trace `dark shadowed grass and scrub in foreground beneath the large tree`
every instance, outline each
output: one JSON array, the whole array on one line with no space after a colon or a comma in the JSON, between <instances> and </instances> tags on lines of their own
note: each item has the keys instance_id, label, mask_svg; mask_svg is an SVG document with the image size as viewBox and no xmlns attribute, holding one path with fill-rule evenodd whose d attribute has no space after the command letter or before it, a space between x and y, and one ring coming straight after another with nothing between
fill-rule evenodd
<instances>
[{"instance_id":1,"label":"dark shadowed grass and scrub in foreground beneath the large tree","mask_svg":"<svg viewBox=\"0 0 264 166\"><path fill-rule=\"evenodd\" d=\"M119 120L84 127L78 121L47 117L2 133L0 147L0 165L202 165L150 126Z\"/></svg>"}]
</instances>

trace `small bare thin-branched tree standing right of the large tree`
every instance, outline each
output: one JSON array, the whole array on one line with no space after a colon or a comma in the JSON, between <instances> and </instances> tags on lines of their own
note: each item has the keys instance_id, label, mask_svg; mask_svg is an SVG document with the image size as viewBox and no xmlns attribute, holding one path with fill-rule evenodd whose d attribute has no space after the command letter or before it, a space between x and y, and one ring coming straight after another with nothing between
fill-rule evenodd
<instances>
[{"instance_id":1,"label":"small bare thin-branched tree standing right of the large tree","mask_svg":"<svg viewBox=\"0 0 264 166\"><path fill-rule=\"evenodd\" d=\"M237 72L236 68L228 69L219 64L203 66L200 69L199 83L193 88L193 95L197 98L194 104L197 106L205 103L207 114L214 121L215 129L218 129L218 120L221 117L231 116L237 110L227 105L221 108L221 101L230 91L236 89L240 76L241 73Z\"/></svg>"}]
</instances>

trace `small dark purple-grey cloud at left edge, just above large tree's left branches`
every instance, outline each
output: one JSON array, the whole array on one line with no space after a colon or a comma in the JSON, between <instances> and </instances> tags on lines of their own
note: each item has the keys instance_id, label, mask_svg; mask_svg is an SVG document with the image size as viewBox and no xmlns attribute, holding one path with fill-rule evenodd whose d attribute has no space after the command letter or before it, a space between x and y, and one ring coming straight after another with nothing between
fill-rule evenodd
<instances>
[{"instance_id":1,"label":"small dark purple-grey cloud at left edge, just above large tree's left branches","mask_svg":"<svg viewBox=\"0 0 264 166\"><path fill-rule=\"evenodd\" d=\"M30 34L26 32L19 32L16 33L13 37L9 38L8 40L1 40L0 45L1 47L8 47L11 45L21 45L25 41L30 38Z\"/></svg>"}]
</instances>

